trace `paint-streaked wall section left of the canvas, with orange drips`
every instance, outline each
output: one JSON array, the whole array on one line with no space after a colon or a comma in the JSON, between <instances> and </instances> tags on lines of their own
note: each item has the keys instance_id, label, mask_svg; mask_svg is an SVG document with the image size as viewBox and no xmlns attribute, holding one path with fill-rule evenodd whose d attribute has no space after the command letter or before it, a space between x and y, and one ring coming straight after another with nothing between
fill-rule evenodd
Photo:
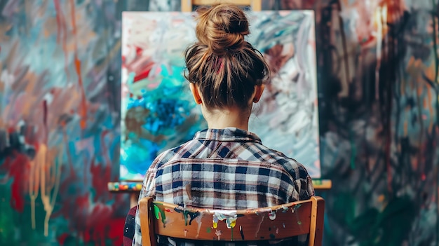
<instances>
[{"instance_id":1,"label":"paint-streaked wall section left of the canvas, with orange drips","mask_svg":"<svg viewBox=\"0 0 439 246\"><path fill-rule=\"evenodd\" d=\"M0 1L0 245L121 244L117 1ZM20 244L21 245L21 244Z\"/></svg>"}]
</instances>

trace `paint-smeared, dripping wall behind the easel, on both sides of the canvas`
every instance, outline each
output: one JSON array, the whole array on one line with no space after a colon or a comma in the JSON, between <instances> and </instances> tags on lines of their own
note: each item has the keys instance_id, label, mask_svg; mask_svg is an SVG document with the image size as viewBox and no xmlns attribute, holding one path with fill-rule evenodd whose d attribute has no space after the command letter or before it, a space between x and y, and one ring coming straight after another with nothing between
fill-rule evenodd
<instances>
[{"instance_id":1,"label":"paint-smeared, dripping wall behind the easel, on both sides of the canvas","mask_svg":"<svg viewBox=\"0 0 439 246\"><path fill-rule=\"evenodd\" d=\"M316 10L325 245L437 245L438 5ZM0 245L121 245L121 11L177 0L0 1Z\"/></svg>"}]
</instances>

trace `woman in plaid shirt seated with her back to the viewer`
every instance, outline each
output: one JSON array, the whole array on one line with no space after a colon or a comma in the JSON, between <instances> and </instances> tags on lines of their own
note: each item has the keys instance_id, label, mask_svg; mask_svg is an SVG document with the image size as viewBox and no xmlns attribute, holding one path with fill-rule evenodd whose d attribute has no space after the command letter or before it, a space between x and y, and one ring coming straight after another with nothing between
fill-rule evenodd
<instances>
[{"instance_id":1,"label":"woman in plaid shirt seated with her back to the viewer","mask_svg":"<svg viewBox=\"0 0 439 246\"><path fill-rule=\"evenodd\" d=\"M264 91L269 67L245 41L245 13L230 4L197 12L198 41L187 48L185 76L208 129L154 160L139 199L233 210L309 199L314 190L304 166L248 132L252 105ZM140 245L138 214L135 221L133 245ZM175 245L170 238L158 240Z\"/></svg>"}]
</instances>

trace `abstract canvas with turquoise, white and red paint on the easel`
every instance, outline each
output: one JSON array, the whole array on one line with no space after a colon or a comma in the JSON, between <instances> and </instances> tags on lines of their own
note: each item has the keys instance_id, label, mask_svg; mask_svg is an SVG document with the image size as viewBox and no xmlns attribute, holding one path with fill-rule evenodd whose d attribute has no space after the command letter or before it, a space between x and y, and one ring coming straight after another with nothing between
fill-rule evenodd
<instances>
[{"instance_id":1,"label":"abstract canvas with turquoise, white and red paint on the easel","mask_svg":"<svg viewBox=\"0 0 439 246\"><path fill-rule=\"evenodd\" d=\"M272 81L255 104L250 130L320 177L313 11L250 15L248 41L264 53ZM143 180L158 153L207 128L183 76L184 50L196 40L191 13L122 15L120 179Z\"/></svg>"}]
</instances>

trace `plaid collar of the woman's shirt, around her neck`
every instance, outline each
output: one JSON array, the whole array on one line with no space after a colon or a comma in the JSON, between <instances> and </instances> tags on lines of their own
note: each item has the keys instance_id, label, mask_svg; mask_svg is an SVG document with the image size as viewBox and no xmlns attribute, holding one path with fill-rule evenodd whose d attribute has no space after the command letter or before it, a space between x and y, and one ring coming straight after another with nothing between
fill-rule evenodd
<instances>
[{"instance_id":1,"label":"plaid collar of the woman's shirt, around her neck","mask_svg":"<svg viewBox=\"0 0 439 246\"><path fill-rule=\"evenodd\" d=\"M229 142L259 142L259 144L262 144L261 139L255 133L238 128L205 129L196 132L194 139Z\"/></svg>"}]
</instances>

